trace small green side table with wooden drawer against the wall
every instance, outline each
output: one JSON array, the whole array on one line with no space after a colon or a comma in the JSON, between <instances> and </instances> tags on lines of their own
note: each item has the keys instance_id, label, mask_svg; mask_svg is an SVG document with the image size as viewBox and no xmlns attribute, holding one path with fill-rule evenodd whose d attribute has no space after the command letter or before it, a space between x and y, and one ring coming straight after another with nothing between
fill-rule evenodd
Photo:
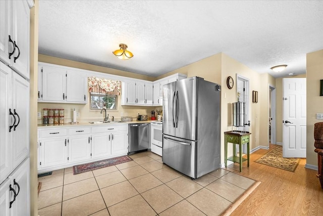
<instances>
[{"instance_id":1,"label":"small green side table with wooden drawer against the wall","mask_svg":"<svg viewBox=\"0 0 323 216\"><path fill-rule=\"evenodd\" d=\"M242 132L242 131L227 131L224 133L224 163L227 167L228 160L240 163L240 171L242 170L242 162L248 161L249 167L249 154L250 154L250 147L249 147L249 136L251 133L249 132ZM228 158L228 143L237 144L239 145L239 157L236 156L236 148L233 148L233 156ZM247 159L242 158L242 145L247 144Z\"/></svg>"}]
</instances>

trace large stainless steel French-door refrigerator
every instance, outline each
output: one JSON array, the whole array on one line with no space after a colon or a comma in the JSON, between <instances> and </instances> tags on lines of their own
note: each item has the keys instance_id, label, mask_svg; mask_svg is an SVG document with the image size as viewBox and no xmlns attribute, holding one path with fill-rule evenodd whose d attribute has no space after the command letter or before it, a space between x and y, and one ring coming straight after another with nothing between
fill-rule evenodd
<instances>
[{"instance_id":1,"label":"large stainless steel French-door refrigerator","mask_svg":"<svg viewBox=\"0 0 323 216\"><path fill-rule=\"evenodd\" d=\"M163 162L193 179L220 167L220 91L196 76L163 86Z\"/></svg>"}]
</instances>

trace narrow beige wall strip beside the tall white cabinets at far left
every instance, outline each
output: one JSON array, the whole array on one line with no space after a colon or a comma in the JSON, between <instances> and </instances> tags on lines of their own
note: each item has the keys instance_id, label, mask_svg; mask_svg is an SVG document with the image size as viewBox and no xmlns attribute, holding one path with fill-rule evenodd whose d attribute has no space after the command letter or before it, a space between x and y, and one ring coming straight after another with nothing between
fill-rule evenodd
<instances>
[{"instance_id":1,"label":"narrow beige wall strip beside the tall white cabinets at far left","mask_svg":"<svg viewBox=\"0 0 323 216\"><path fill-rule=\"evenodd\" d=\"M30 10L30 215L38 215L37 202L37 64L38 1Z\"/></svg>"}]
</instances>

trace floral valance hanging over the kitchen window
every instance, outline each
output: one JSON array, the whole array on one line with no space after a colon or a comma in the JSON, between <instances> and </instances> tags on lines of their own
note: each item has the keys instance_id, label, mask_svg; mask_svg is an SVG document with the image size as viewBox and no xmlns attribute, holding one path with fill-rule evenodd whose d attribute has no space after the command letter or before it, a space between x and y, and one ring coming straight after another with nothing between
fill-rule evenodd
<instances>
[{"instance_id":1,"label":"floral valance hanging over the kitchen window","mask_svg":"<svg viewBox=\"0 0 323 216\"><path fill-rule=\"evenodd\" d=\"M121 94L121 81L104 79L97 77L88 77L89 92L103 93L107 95Z\"/></svg>"}]
</instances>

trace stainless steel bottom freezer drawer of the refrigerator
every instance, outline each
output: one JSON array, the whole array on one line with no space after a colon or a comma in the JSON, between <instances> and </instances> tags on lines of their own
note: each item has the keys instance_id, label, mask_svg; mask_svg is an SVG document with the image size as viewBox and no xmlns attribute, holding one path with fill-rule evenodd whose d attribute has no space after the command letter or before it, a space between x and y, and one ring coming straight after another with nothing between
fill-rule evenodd
<instances>
[{"instance_id":1,"label":"stainless steel bottom freezer drawer of the refrigerator","mask_svg":"<svg viewBox=\"0 0 323 216\"><path fill-rule=\"evenodd\" d=\"M163 162L196 179L196 142L164 135Z\"/></svg>"}]
</instances>

